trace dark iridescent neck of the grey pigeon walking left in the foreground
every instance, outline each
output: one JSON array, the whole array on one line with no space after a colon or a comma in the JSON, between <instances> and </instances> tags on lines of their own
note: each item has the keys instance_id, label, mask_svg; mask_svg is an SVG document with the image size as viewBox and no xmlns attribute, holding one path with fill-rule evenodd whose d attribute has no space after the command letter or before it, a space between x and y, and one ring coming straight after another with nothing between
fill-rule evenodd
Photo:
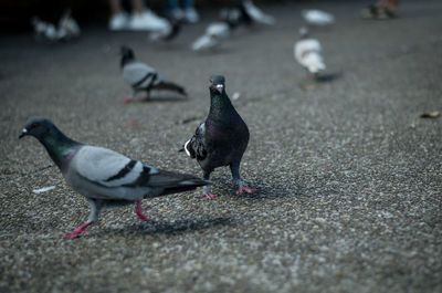
<instances>
[{"instance_id":1,"label":"dark iridescent neck of the grey pigeon walking left in the foreground","mask_svg":"<svg viewBox=\"0 0 442 293\"><path fill-rule=\"evenodd\" d=\"M66 170L72 157L81 147L80 143L65 136L55 126L45 136L39 138L39 140L62 172Z\"/></svg>"}]
</instances>

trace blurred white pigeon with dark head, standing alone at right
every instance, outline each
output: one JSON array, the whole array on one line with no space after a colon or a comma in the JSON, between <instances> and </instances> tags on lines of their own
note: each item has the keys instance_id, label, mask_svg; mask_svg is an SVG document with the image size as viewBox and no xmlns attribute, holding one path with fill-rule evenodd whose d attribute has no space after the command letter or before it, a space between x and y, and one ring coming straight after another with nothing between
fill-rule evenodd
<instances>
[{"instance_id":1,"label":"blurred white pigeon with dark head, standing alone at right","mask_svg":"<svg viewBox=\"0 0 442 293\"><path fill-rule=\"evenodd\" d=\"M293 48L295 59L309 73L307 77L312 75L317 77L318 73L326 69L320 54L320 43L318 40L309 38L305 27L301 28L299 34L299 40Z\"/></svg>"}]
</instances>

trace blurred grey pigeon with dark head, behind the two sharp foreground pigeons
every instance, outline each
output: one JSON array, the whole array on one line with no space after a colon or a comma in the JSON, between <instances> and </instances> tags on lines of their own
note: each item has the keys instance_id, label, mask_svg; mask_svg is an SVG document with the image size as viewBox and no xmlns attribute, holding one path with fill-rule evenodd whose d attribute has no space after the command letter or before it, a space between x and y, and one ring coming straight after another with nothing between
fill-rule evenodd
<instances>
[{"instance_id":1,"label":"blurred grey pigeon with dark head, behind the two sharp foreground pigeons","mask_svg":"<svg viewBox=\"0 0 442 293\"><path fill-rule=\"evenodd\" d=\"M187 96L182 86L165 80L155 69L137 61L134 51L128 46L122 46L122 70L123 79L134 90L131 96L125 98L123 103L131 102L141 91L147 92L145 100L149 100L151 90L169 90Z\"/></svg>"}]
</instances>

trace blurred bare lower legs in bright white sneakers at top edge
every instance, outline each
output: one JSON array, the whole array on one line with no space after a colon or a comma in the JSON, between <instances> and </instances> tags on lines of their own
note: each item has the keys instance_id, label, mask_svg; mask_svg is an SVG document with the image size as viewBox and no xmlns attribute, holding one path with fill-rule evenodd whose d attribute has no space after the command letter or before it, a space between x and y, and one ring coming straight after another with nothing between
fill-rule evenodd
<instances>
[{"instance_id":1,"label":"blurred bare lower legs in bright white sneakers at top edge","mask_svg":"<svg viewBox=\"0 0 442 293\"><path fill-rule=\"evenodd\" d=\"M112 15L108 28L110 31L160 31L169 25L167 20L159 18L145 7L143 0L131 0L131 14L124 11L119 0L109 0L109 6Z\"/></svg>"}]
</instances>

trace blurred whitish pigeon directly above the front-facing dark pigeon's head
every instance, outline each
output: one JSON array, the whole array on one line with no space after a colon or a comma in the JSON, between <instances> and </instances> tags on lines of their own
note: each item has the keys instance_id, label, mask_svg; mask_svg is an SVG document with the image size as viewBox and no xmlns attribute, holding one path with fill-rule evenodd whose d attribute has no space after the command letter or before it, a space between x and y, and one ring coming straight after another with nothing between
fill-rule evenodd
<instances>
[{"instance_id":1,"label":"blurred whitish pigeon directly above the front-facing dark pigeon's head","mask_svg":"<svg viewBox=\"0 0 442 293\"><path fill-rule=\"evenodd\" d=\"M230 35L230 27L227 22L218 21L210 23L203 35L198 38L191 45L193 51L207 50L221 44L221 41Z\"/></svg>"}]
</instances>

